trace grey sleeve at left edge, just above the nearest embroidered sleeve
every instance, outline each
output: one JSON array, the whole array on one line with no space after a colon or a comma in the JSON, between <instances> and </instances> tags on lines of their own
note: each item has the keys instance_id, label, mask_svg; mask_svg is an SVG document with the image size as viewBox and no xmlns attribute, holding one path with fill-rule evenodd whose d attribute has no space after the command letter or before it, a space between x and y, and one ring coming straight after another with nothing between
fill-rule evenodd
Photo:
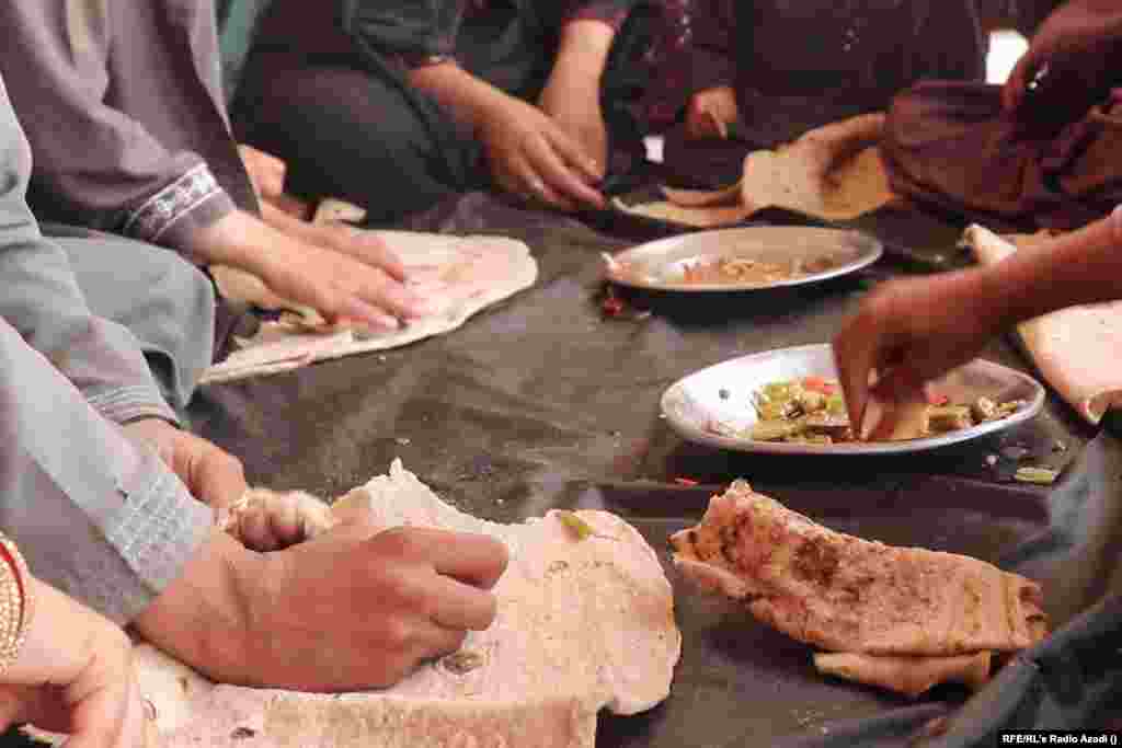
<instances>
[{"instance_id":1,"label":"grey sleeve at left edge, just above the nearest embroidered sleeve","mask_svg":"<svg viewBox=\"0 0 1122 748\"><path fill-rule=\"evenodd\" d=\"M91 314L65 252L39 233L25 200L30 168L27 140L0 81L0 317L105 417L175 423L132 333Z\"/></svg>"}]
</instances>

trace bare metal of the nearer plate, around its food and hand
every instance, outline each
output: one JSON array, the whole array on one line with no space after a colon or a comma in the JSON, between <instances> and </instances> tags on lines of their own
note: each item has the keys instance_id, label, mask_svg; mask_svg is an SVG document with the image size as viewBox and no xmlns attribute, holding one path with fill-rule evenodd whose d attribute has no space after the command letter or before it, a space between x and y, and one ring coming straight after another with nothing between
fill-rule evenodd
<instances>
[{"instance_id":1,"label":"bare metal of the nearer plate, around its food and hand","mask_svg":"<svg viewBox=\"0 0 1122 748\"><path fill-rule=\"evenodd\" d=\"M801 377L837 379L829 345L800 345L754 353L718 363L677 381L662 395L662 413L682 438L738 452L773 454L898 454L932 450L992 434L1036 416L1045 401L1045 389L1032 377L1008 367L976 359L935 384L953 403L985 395L994 400L1023 399L1026 407L1006 418L971 428L902 442L844 442L799 444L762 442L714 432L747 430L756 422L752 396L773 381ZM721 397L725 395L725 397Z\"/></svg>"}]
</instances>

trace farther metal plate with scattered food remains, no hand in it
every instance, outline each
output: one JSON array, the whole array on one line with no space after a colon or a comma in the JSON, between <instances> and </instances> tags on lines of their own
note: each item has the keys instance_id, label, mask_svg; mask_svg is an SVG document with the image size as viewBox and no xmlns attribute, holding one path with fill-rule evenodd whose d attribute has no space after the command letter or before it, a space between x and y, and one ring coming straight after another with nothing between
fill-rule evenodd
<instances>
[{"instance_id":1,"label":"farther metal plate with scattered food remains, no hand in it","mask_svg":"<svg viewBox=\"0 0 1122 748\"><path fill-rule=\"evenodd\" d=\"M880 259L881 242L859 231L746 227L701 231L605 255L609 280L635 288L736 292L817 283Z\"/></svg>"}]
</instances>

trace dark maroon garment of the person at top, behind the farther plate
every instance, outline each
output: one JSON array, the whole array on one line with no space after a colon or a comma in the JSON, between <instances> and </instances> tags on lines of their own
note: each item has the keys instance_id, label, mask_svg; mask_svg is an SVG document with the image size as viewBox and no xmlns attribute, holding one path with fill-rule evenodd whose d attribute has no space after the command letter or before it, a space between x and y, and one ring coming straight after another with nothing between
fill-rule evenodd
<instances>
[{"instance_id":1,"label":"dark maroon garment of the person at top, behind the farther plate","mask_svg":"<svg viewBox=\"0 0 1122 748\"><path fill-rule=\"evenodd\" d=\"M735 178L748 150L885 109L917 81L985 74L974 0L693 0L692 16L680 63L691 71L683 103L697 91L732 85L741 122L728 142L668 132L666 170L686 185Z\"/></svg>"}]
</instances>

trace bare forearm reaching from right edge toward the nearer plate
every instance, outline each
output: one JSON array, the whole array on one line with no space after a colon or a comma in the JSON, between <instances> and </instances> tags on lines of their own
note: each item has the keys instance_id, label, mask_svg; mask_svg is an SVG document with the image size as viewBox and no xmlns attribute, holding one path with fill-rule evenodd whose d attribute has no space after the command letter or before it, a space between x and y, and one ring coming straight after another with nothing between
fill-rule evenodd
<instances>
[{"instance_id":1,"label":"bare forearm reaching from right edge toward the nearer plate","mask_svg":"<svg viewBox=\"0 0 1122 748\"><path fill-rule=\"evenodd\" d=\"M980 271L1005 325L1122 298L1122 232L1103 220Z\"/></svg>"}]
</instances>

